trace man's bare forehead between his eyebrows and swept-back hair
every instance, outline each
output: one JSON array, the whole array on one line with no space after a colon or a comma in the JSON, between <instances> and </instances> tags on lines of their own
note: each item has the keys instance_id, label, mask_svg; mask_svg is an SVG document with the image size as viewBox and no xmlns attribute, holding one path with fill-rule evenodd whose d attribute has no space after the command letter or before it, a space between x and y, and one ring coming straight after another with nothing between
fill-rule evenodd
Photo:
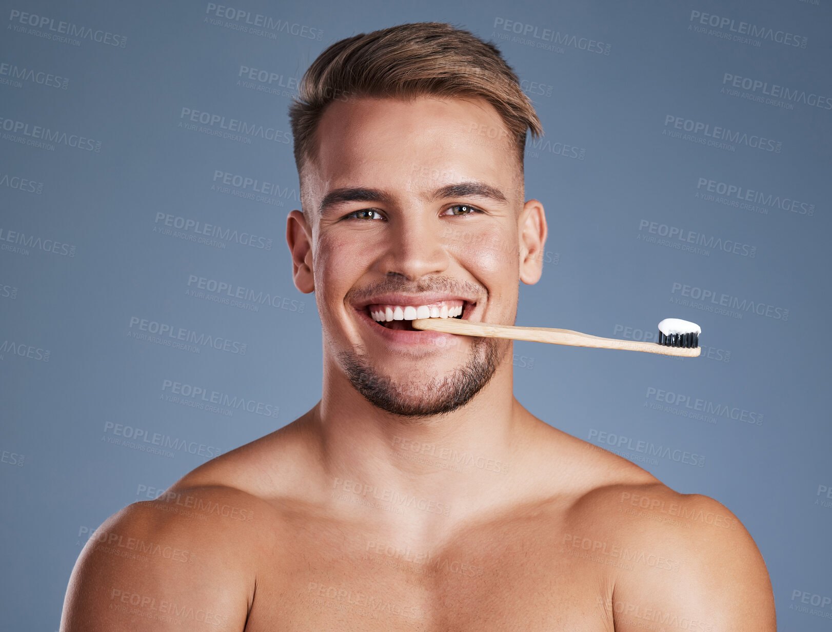
<instances>
[{"instance_id":1,"label":"man's bare forehead between his eyebrows and swept-back hair","mask_svg":"<svg viewBox=\"0 0 832 632\"><path fill-rule=\"evenodd\" d=\"M310 193L317 199L350 185L420 190L480 180L508 190L518 174L508 129L482 99L334 101L316 138Z\"/></svg>"}]
</instances>

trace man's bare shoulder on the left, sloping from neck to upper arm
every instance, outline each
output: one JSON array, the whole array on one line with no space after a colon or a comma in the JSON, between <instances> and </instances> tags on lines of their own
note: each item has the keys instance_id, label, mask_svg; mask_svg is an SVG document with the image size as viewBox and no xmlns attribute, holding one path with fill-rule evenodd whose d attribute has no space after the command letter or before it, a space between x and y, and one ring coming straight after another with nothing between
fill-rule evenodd
<instances>
[{"instance_id":1,"label":"man's bare shoulder on the left, sloping from neck to upper arm","mask_svg":"<svg viewBox=\"0 0 832 632\"><path fill-rule=\"evenodd\" d=\"M110 516L72 570L62 632L243 630L261 560L280 551L282 491L303 477L290 426Z\"/></svg>"}]
</instances>

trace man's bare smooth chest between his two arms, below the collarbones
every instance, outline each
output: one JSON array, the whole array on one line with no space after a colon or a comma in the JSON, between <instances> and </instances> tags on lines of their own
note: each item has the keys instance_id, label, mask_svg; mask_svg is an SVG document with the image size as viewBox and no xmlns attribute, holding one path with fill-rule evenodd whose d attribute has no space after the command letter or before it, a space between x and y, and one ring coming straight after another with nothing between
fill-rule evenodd
<instances>
[{"instance_id":1,"label":"man's bare smooth chest between his two arms, below the collarbones","mask_svg":"<svg viewBox=\"0 0 832 632\"><path fill-rule=\"evenodd\" d=\"M312 532L264 569L247 632L612 630L605 566L571 555L551 532L479 532L433 551Z\"/></svg>"}]
</instances>

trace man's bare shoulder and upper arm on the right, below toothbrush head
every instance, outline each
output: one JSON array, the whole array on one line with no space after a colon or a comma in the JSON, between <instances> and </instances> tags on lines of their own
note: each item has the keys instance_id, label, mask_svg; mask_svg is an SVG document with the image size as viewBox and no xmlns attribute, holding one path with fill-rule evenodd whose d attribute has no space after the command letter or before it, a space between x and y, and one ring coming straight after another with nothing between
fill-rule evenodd
<instances>
[{"instance_id":1,"label":"man's bare shoulder and upper arm on the right, below toothbrush head","mask_svg":"<svg viewBox=\"0 0 832 632\"><path fill-rule=\"evenodd\" d=\"M740 520L603 452L587 458L592 483L568 512L562 551L608 567L614 590L604 607L616 630L774 632L765 561Z\"/></svg>"}]
</instances>

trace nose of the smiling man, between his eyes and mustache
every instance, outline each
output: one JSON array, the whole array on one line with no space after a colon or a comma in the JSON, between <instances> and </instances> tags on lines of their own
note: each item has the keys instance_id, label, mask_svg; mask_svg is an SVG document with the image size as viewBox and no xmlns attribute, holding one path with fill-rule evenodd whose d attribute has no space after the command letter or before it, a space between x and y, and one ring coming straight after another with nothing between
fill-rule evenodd
<instances>
[{"instance_id":1,"label":"nose of the smiling man, between his eyes and mustache","mask_svg":"<svg viewBox=\"0 0 832 632\"><path fill-rule=\"evenodd\" d=\"M379 259L382 274L400 274L410 281L448 269L448 251L443 244L440 221L428 212L397 214L391 222L389 244Z\"/></svg>"}]
</instances>

